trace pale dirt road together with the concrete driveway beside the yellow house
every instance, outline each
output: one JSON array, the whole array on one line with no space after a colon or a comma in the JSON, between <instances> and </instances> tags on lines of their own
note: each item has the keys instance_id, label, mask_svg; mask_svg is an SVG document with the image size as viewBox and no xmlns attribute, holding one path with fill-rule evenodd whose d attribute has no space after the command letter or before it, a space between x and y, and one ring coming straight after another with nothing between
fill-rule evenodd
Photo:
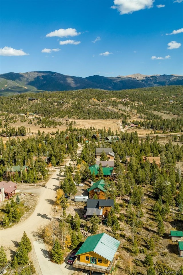
<instances>
[{"instance_id":1,"label":"pale dirt road together with the concrete driveway beside the yellow house","mask_svg":"<svg viewBox=\"0 0 183 275\"><path fill-rule=\"evenodd\" d=\"M81 149L79 148L78 151ZM66 165L69 165L69 161L67 161ZM10 250L15 250L13 247L15 242L19 242L23 235L23 231L26 232L28 238L33 243L33 250L31 252L32 258L36 259L35 254L37 256L37 260L39 265L35 263L35 267L37 270L37 274L39 275L68 275L71 269L71 266L68 265L65 268L63 265L57 265L50 262L49 258L45 257L45 245L43 243L36 242L35 232L39 226L46 225L52 220L51 217L51 207L55 201L55 190L59 186L59 181L57 179L59 175L59 168L55 168L56 171L51 175L45 187L41 187L39 202L32 213L32 215L25 221L14 225L11 228L7 228L0 231L0 246ZM42 248L42 250L41 250ZM47 268L45 268L47 266ZM39 268L40 267L40 268Z\"/></svg>"}]
</instances>

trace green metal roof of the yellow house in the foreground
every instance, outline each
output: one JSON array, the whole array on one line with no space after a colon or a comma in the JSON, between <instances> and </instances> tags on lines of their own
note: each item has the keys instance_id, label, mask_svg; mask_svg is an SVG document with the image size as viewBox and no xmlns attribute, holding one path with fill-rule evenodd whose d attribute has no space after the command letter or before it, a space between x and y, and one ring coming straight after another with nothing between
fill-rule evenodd
<instances>
[{"instance_id":1,"label":"green metal roof of the yellow house in the foreground","mask_svg":"<svg viewBox=\"0 0 183 275\"><path fill-rule=\"evenodd\" d=\"M79 248L76 255L93 251L112 262L119 245L120 241L114 239L106 233L101 233L88 237Z\"/></svg>"}]
</instances>

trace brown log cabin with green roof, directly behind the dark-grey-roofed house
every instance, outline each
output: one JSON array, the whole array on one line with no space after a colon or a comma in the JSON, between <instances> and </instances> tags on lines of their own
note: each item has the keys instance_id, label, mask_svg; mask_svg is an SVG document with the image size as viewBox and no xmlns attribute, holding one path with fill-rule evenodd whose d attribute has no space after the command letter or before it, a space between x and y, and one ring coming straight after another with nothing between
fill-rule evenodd
<instances>
[{"instance_id":1,"label":"brown log cabin with green roof, directly behind the dark-grey-roofed house","mask_svg":"<svg viewBox=\"0 0 183 275\"><path fill-rule=\"evenodd\" d=\"M106 199L105 189L104 189L104 180L100 179L96 181L90 188L87 189L89 199L93 199L96 194L98 199Z\"/></svg>"}]
</instances>

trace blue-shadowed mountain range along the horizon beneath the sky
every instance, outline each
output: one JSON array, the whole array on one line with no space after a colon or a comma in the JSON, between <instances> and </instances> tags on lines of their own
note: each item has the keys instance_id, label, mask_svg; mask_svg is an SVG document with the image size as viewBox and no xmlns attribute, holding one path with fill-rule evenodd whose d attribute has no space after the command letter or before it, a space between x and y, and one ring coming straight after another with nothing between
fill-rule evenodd
<instances>
[{"instance_id":1,"label":"blue-shadowed mountain range along the horizon beneath the sky","mask_svg":"<svg viewBox=\"0 0 183 275\"><path fill-rule=\"evenodd\" d=\"M183 76L142 75L105 77L68 76L57 72L37 71L26 73L6 73L0 75L0 95L24 92L68 91L78 89L124 90L165 85L183 85Z\"/></svg>"}]
</instances>

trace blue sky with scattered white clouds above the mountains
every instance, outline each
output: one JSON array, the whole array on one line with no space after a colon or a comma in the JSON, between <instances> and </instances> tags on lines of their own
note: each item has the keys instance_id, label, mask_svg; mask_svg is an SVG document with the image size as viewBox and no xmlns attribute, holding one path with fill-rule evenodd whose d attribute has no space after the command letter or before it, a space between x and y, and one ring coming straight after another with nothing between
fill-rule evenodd
<instances>
[{"instance_id":1,"label":"blue sky with scattered white clouds above the mountains","mask_svg":"<svg viewBox=\"0 0 183 275\"><path fill-rule=\"evenodd\" d=\"M183 0L0 4L1 74L183 74Z\"/></svg>"}]
</instances>

